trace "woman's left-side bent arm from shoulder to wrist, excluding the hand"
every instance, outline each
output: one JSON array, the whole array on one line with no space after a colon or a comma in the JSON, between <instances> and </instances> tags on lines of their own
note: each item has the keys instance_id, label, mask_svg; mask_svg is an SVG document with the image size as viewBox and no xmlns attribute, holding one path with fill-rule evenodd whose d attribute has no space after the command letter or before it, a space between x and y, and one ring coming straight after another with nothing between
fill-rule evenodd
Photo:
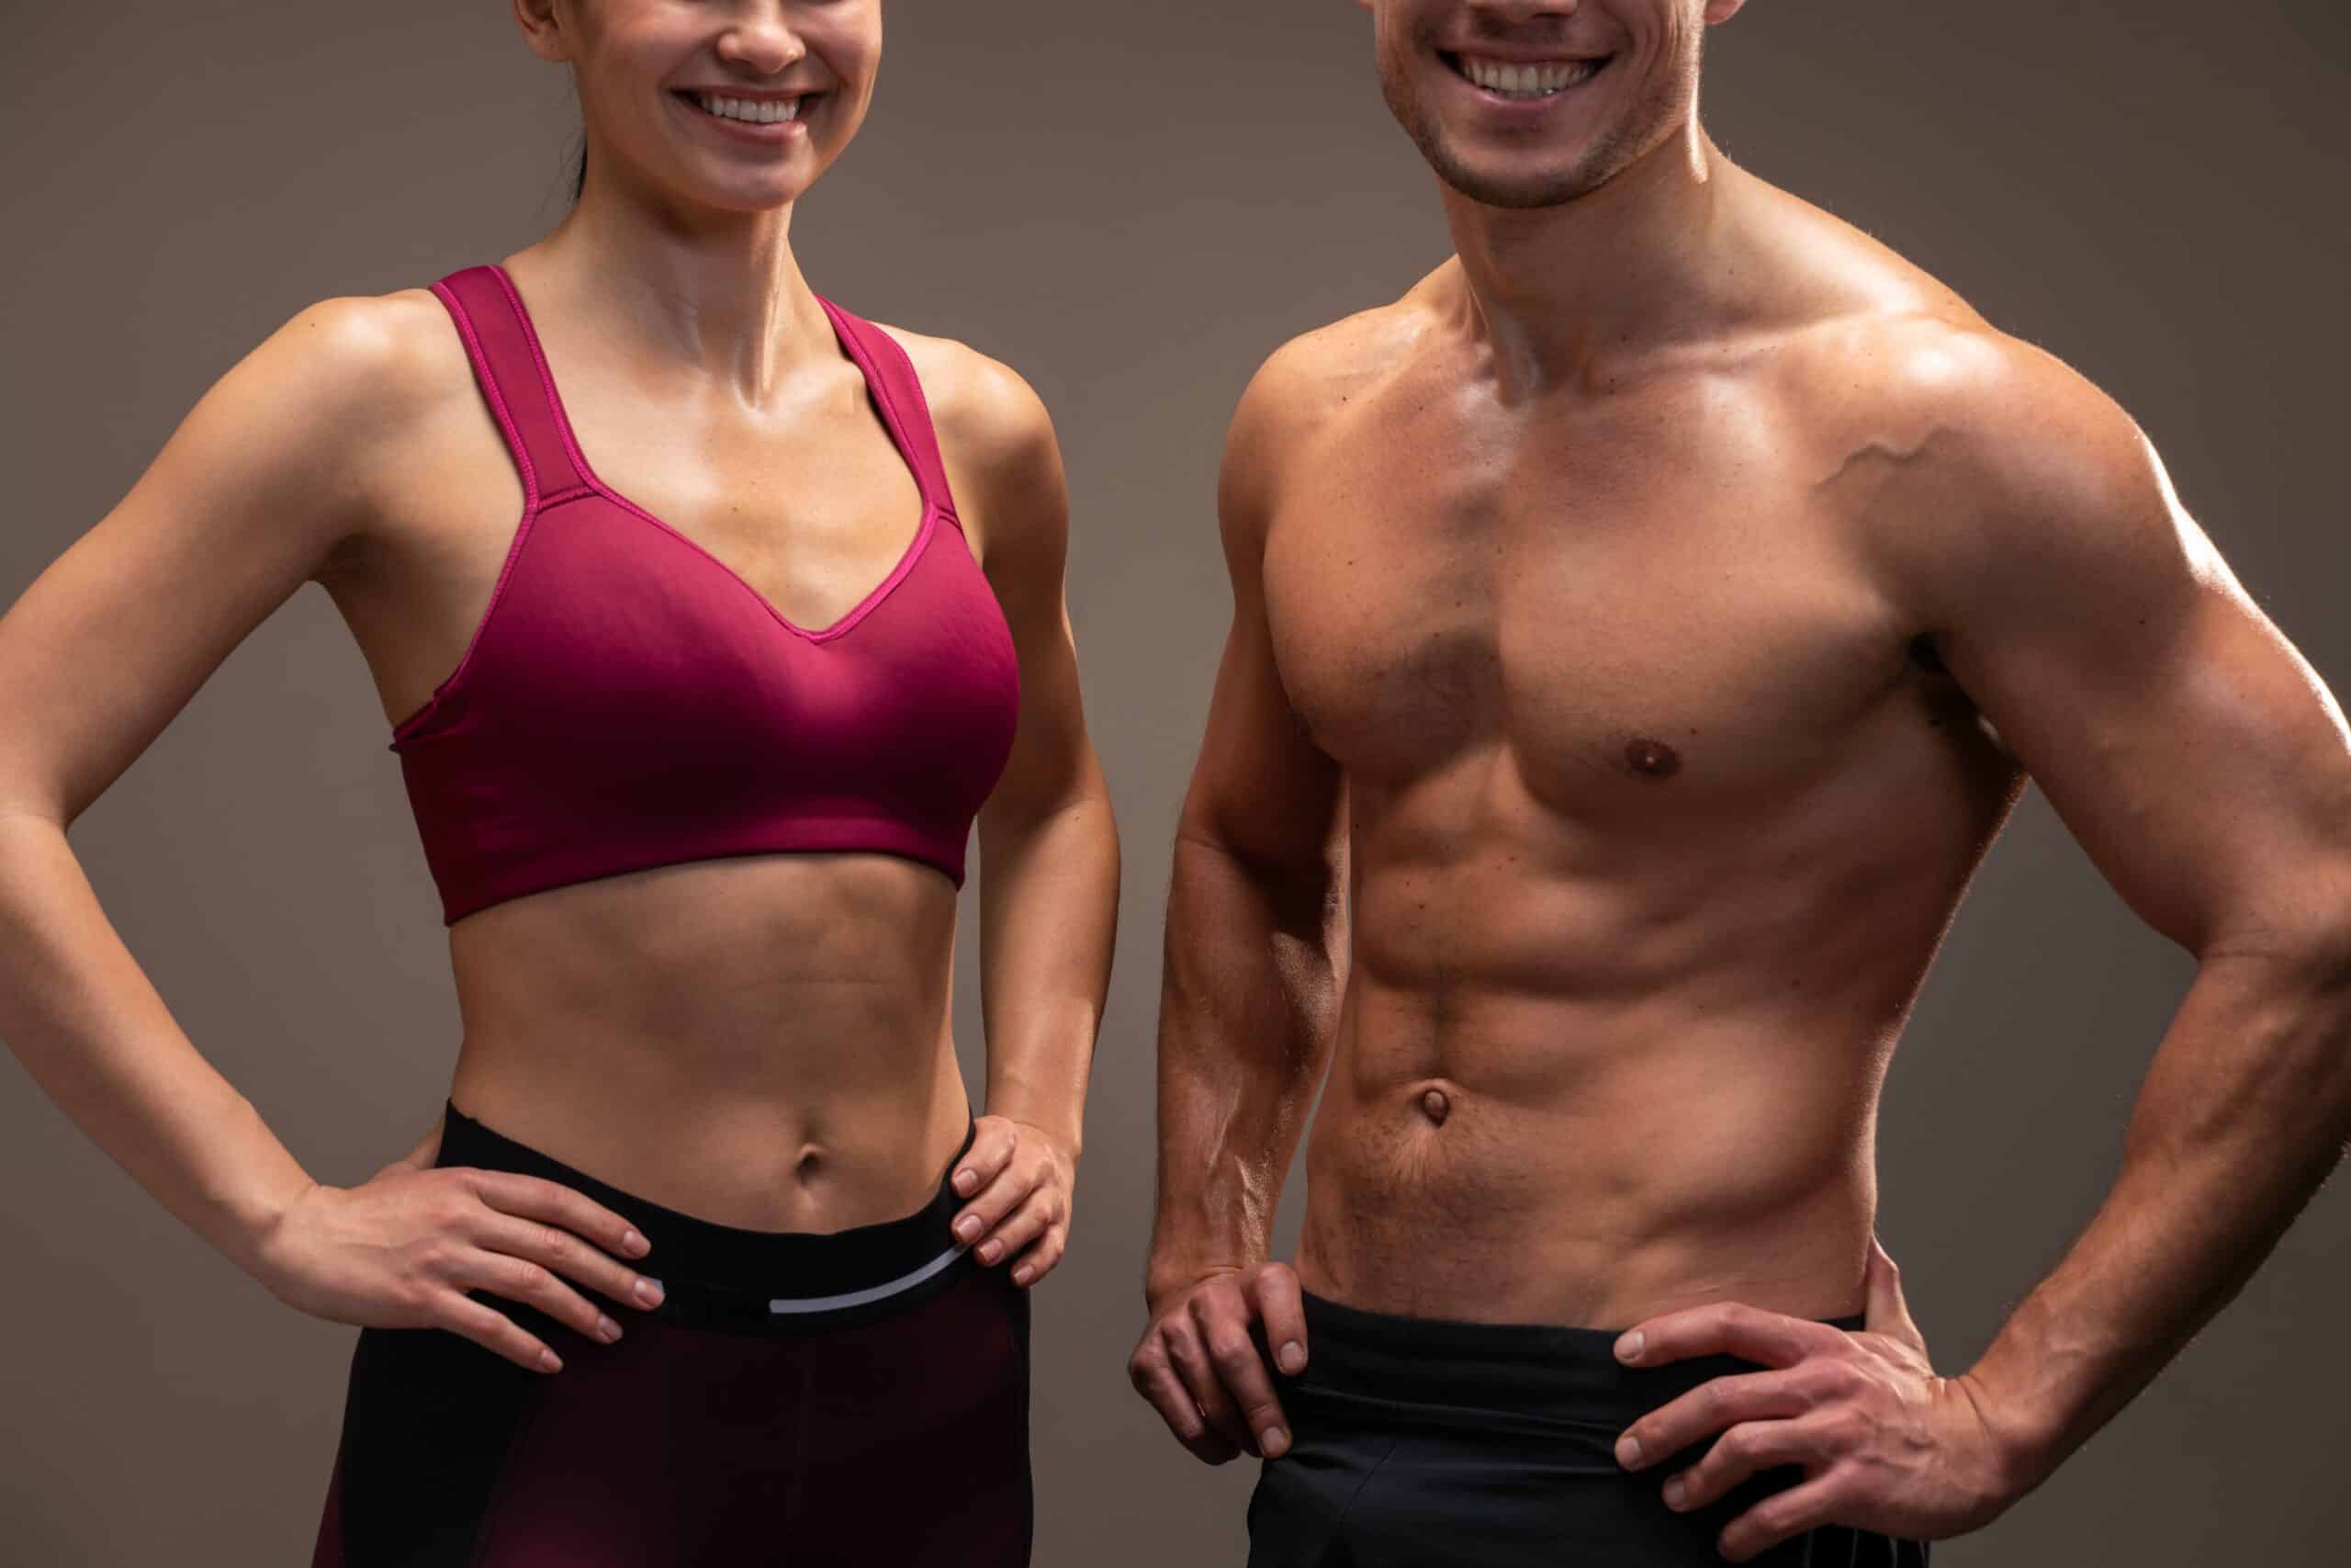
<instances>
[{"instance_id":1,"label":"woman's left-side bent arm from shoulder to wrist, excluding the hand","mask_svg":"<svg viewBox=\"0 0 2351 1568\"><path fill-rule=\"evenodd\" d=\"M0 616L0 1034L247 1272L310 1178L179 1030L66 830L362 527L353 451L397 395L369 306L322 301L270 334Z\"/></svg>"}]
</instances>

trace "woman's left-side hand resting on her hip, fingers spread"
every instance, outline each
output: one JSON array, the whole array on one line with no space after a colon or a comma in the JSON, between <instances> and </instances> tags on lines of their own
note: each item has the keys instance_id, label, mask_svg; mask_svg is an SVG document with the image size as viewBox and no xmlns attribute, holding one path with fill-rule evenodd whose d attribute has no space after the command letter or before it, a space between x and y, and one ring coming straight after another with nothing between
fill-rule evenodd
<instances>
[{"instance_id":1,"label":"woman's left-side hand resting on her hip, fingers spread","mask_svg":"<svg viewBox=\"0 0 2351 1568\"><path fill-rule=\"evenodd\" d=\"M261 1284L334 1324L447 1328L552 1373L562 1359L538 1335L465 1291L529 1302L609 1345L621 1326L562 1276L654 1307L661 1281L611 1255L642 1258L649 1246L574 1187L515 1171L418 1168L402 1157L357 1187L317 1185L294 1199L263 1246Z\"/></svg>"}]
</instances>

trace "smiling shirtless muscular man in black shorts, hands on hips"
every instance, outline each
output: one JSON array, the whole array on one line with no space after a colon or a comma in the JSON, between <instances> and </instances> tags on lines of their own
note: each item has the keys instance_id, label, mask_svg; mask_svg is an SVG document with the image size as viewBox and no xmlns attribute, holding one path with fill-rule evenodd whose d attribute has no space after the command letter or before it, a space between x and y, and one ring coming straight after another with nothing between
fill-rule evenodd
<instances>
[{"instance_id":1,"label":"smiling shirtless muscular man in black shorts, hands on hips","mask_svg":"<svg viewBox=\"0 0 2351 1568\"><path fill-rule=\"evenodd\" d=\"M1455 256L1234 416L1128 1371L1251 1568L1918 1563L2351 1133L2339 708L2114 402L1714 148L1740 2L1366 0ZM2198 973L1937 1375L1876 1095L2027 776Z\"/></svg>"}]
</instances>

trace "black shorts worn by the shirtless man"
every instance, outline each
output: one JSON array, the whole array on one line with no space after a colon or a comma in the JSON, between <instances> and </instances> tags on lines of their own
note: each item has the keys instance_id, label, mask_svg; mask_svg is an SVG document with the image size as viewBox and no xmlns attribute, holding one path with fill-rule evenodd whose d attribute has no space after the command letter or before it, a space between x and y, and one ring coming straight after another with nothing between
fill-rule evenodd
<instances>
[{"instance_id":1,"label":"black shorts worn by the shirtless man","mask_svg":"<svg viewBox=\"0 0 2351 1568\"><path fill-rule=\"evenodd\" d=\"M1766 1469L1676 1514L1660 1488L1712 1439L1641 1472L1617 1465L1634 1420L1756 1371L1737 1356L1632 1368L1608 1328L1394 1316L1312 1291L1305 1316L1305 1371L1274 1375L1293 1446L1258 1472L1248 1568L1714 1568L1723 1526L1803 1479ZM1925 1544L1822 1526L1751 1561L1923 1568Z\"/></svg>"}]
</instances>

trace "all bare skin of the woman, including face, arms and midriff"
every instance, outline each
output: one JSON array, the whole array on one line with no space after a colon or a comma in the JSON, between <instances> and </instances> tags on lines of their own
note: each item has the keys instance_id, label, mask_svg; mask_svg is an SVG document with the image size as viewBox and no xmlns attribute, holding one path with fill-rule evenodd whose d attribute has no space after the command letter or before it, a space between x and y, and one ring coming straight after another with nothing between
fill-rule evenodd
<instances>
[{"instance_id":1,"label":"all bare skin of the woman, including face, arms and midriff","mask_svg":"<svg viewBox=\"0 0 2351 1568\"><path fill-rule=\"evenodd\" d=\"M792 623L830 625L922 512L790 249L797 197L865 115L879 0L513 9L541 59L576 71L588 118L581 205L503 256L588 461ZM795 96L802 129L731 139L679 89ZM987 1100L955 1192L978 1262L1032 1286L1067 1244L1117 907L1063 604L1067 494L1020 376L891 331L964 524L929 548L976 552L1018 651L1013 755L978 818ZM66 842L303 583L350 625L386 726L416 712L480 625L520 512L513 456L423 289L310 306L197 402L0 621L0 1037L284 1302L447 1328L557 1371L465 1291L616 1338L588 1288L661 1300L639 1279L663 1262L628 1215L536 1178L428 1168L437 1133L355 1187L310 1178L179 1030ZM950 1034L955 910L936 867L863 851L663 865L480 910L449 929L451 1100L722 1225L832 1232L912 1213L973 1114Z\"/></svg>"}]
</instances>

